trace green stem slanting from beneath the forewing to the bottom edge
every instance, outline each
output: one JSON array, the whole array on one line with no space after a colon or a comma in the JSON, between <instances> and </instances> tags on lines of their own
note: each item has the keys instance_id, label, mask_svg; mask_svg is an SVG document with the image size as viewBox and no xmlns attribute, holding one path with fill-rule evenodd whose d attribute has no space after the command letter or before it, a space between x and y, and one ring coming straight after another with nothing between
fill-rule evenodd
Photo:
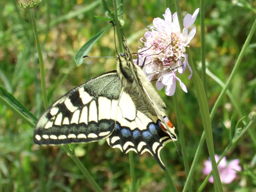
<instances>
[{"instance_id":1,"label":"green stem slanting from beneath the forewing to the bottom edge","mask_svg":"<svg viewBox=\"0 0 256 192\"><path fill-rule=\"evenodd\" d=\"M61 146L61 148L67 153L70 154L71 159L76 163L76 165L78 166L78 168L81 170L81 172L83 173L84 176L86 176L87 180L91 183L91 185L93 186L93 188L97 191L97 192L102 192L101 188L99 187L99 185L96 183L96 181L93 179L93 177L90 175L90 173L88 172L87 168L83 166L83 164L81 163L81 161L78 159L78 157L70 150L68 145L63 145Z\"/></svg>"}]
</instances>

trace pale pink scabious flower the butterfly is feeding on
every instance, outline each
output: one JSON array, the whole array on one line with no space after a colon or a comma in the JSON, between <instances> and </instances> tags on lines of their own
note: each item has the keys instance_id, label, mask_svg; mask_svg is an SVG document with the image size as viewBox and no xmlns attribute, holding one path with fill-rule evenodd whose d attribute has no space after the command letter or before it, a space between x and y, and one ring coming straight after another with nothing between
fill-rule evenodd
<instances>
[{"instance_id":1,"label":"pale pink scabious flower the butterfly is feeding on","mask_svg":"<svg viewBox=\"0 0 256 192\"><path fill-rule=\"evenodd\" d=\"M144 72L149 80L154 76L157 78L156 87L161 90L165 86L165 93L172 96L175 93L176 81L179 81L184 92L187 93L186 86L177 77L176 72L183 74L186 67L190 70L188 79L192 76L192 70L187 61L186 47L196 34L196 27L188 33L188 28L194 24L199 9L191 14L187 14L183 20L184 29L181 32L177 13L170 12L169 8L163 14L164 19L154 18L153 27L141 38L144 46L140 48L139 65L144 62Z\"/></svg>"}]
</instances>

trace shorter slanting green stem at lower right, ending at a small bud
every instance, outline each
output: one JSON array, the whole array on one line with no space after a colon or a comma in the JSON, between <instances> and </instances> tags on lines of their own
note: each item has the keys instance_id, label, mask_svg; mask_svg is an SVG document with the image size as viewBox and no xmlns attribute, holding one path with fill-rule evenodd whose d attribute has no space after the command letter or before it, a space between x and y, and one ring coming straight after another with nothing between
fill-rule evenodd
<instances>
[{"instance_id":1,"label":"shorter slanting green stem at lower right, ending at a small bud","mask_svg":"<svg viewBox=\"0 0 256 192\"><path fill-rule=\"evenodd\" d=\"M249 124L247 125L247 127L242 131L242 133L241 133L236 139L234 139L231 143L228 144L228 146L225 148L224 152L221 154L219 161L217 162L218 165L219 165L219 163L221 162L221 160L223 159L223 157L225 157L226 154L231 151L230 149L231 149L232 147L236 146L239 141L241 142L241 141L243 140L242 137L243 137L243 136L245 135L245 133L249 130L249 127L252 125L252 123L253 123L253 120L251 120L251 121L249 122ZM209 180L211 174L212 174L212 172L210 172L210 173L207 175L207 177L204 179L203 183L202 183L202 184L200 185L200 187L198 188L198 192L203 191L203 189L204 189L205 185L207 184L207 182L208 182L208 180Z\"/></svg>"}]
</instances>

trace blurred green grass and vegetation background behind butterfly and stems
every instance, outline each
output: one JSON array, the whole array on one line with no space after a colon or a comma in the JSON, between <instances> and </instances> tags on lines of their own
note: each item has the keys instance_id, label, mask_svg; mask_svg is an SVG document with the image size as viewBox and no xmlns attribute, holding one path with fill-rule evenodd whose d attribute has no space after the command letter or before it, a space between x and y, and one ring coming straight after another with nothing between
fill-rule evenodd
<instances>
[{"instance_id":1,"label":"blurred green grass and vegetation background behind butterfly and stems","mask_svg":"<svg viewBox=\"0 0 256 192\"><path fill-rule=\"evenodd\" d=\"M106 1L112 7L112 1ZM242 3L242 4L239 4ZM248 4L246 4L248 3ZM199 1L180 1L183 17L193 14ZM245 6L247 5L247 7ZM251 5L249 7L248 5ZM91 7L90 7L91 6ZM29 11L19 8L16 1L0 2L0 86L10 92L37 118L44 111L42 104L38 55ZM223 82L229 77L238 54L255 19L255 1L205 1L206 65L209 71ZM174 13L175 5L169 7ZM132 52L137 52L139 39L155 17L164 14L164 1L123 1L123 28ZM99 31L110 25L101 1L43 0L35 9L42 54L46 69L46 87L49 103L53 103L79 84L116 68L113 58L87 58L76 67L74 56L81 46ZM200 13L199 13L200 14ZM193 60L200 73L200 18L194 24L197 33L190 43ZM229 143L232 123L248 118L256 110L256 43L255 34L246 50L236 77L229 89L240 112L234 109L228 96L222 101L212 121L216 154L221 154ZM116 56L113 29L109 29L94 45L92 56ZM186 71L189 74L189 71ZM189 165L191 165L203 125L200 117L193 81L180 77L188 93L177 84L179 111L184 130ZM222 87L207 76L209 109L215 104ZM170 119L176 124L172 97L164 90L159 92L167 105ZM242 114L242 116L241 116ZM231 123L232 117L232 123ZM0 103L0 192L1 191L93 191L72 159L59 147L40 147L33 144L33 129L6 105ZM244 127L243 123L238 124ZM177 127L179 131L180 127ZM224 191L256 191L256 132L255 124L250 135L226 155L228 160L239 159L242 172L231 184L223 184ZM178 133L179 135L179 133ZM179 141L177 142L179 146ZM76 144L76 155L92 174L103 191L129 191L131 184L129 156L109 147L105 141ZM186 175L181 157L173 143L162 150L172 178L182 190ZM203 147L192 190L196 191L205 176L203 162L208 159L206 144ZM134 155L138 191L169 191L165 172L149 154ZM213 191L208 183L204 191Z\"/></svg>"}]
</instances>

